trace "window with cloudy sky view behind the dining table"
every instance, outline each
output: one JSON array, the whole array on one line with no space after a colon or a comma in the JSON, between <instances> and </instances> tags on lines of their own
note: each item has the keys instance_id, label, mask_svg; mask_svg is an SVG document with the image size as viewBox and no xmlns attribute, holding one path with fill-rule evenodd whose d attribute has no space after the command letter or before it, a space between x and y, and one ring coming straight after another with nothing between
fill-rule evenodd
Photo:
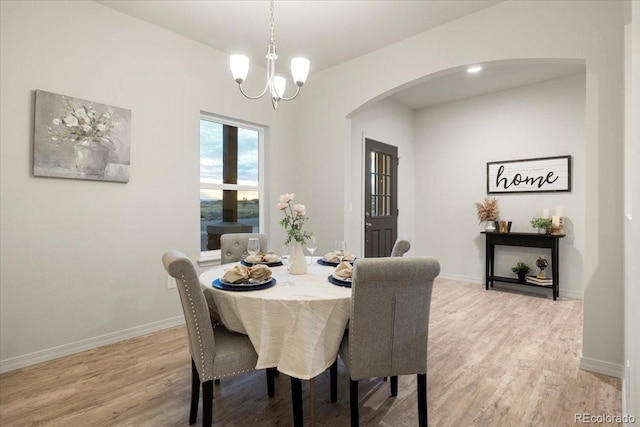
<instances>
[{"instance_id":1,"label":"window with cloudy sky view behind the dining table","mask_svg":"<svg viewBox=\"0 0 640 427\"><path fill-rule=\"evenodd\" d=\"M220 235L258 233L263 130L200 118L200 250L220 249Z\"/></svg>"}]
</instances>

